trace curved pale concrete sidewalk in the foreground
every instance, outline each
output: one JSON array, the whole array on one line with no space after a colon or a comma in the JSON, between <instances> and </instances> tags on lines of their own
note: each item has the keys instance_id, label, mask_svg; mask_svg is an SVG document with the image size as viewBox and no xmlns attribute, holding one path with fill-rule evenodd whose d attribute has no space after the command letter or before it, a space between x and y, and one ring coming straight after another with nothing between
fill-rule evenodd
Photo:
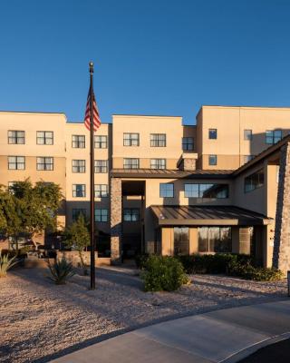
<instances>
[{"instance_id":1,"label":"curved pale concrete sidewalk in the foreground","mask_svg":"<svg viewBox=\"0 0 290 363\"><path fill-rule=\"evenodd\" d=\"M290 337L290 299L169 320L104 340L53 363L237 362Z\"/></svg>"}]
</instances>

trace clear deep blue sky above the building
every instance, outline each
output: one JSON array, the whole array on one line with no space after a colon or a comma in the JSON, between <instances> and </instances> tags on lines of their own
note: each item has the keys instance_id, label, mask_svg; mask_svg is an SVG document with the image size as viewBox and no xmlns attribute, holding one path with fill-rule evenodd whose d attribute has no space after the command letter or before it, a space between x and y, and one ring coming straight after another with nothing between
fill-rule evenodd
<instances>
[{"instance_id":1,"label":"clear deep blue sky above the building","mask_svg":"<svg viewBox=\"0 0 290 363\"><path fill-rule=\"evenodd\" d=\"M287 0L3 0L0 110L81 121L91 59L103 122L290 106L289 19Z\"/></svg>"}]
</instances>

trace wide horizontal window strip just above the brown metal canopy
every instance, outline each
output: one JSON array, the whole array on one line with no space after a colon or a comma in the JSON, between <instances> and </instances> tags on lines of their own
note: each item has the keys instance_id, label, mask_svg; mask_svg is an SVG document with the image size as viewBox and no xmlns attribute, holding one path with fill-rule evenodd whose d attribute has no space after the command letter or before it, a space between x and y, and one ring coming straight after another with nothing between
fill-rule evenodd
<instances>
[{"instance_id":1,"label":"wide horizontal window strip just above the brown metal canopy","mask_svg":"<svg viewBox=\"0 0 290 363\"><path fill-rule=\"evenodd\" d=\"M227 184L184 184L184 196L186 198L228 198Z\"/></svg>"}]
</instances>

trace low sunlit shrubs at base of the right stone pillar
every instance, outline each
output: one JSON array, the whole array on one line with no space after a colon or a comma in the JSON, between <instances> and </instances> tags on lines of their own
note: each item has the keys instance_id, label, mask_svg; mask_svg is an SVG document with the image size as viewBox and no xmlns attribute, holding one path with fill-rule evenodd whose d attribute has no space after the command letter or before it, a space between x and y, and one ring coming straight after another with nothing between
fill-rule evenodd
<instances>
[{"instance_id":1,"label":"low sunlit shrubs at base of the right stone pillar","mask_svg":"<svg viewBox=\"0 0 290 363\"><path fill-rule=\"evenodd\" d=\"M250 263L243 264L237 261L228 265L227 274L255 281L276 281L283 278L283 273L280 270L255 267Z\"/></svg>"}]
</instances>

